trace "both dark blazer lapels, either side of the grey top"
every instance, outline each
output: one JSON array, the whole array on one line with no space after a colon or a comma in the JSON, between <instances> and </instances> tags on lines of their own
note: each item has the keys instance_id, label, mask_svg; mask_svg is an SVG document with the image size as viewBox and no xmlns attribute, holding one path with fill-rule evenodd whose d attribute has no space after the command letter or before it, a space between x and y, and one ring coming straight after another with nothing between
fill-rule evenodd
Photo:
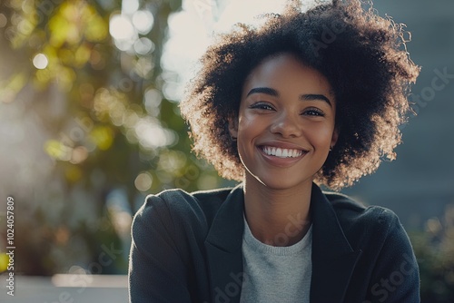
<instances>
[{"instance_id":1,"label":"both dark blazer lapels, either side of the grey top","mask_svg":"<svg viewBox=\"0 0 454 303\"><path fill-rule=\"evenodd\" d=\"M242 289L242 184L222 203L205 239L212 302L240 301ZM342 302L360 257L345 238L331 202L312 184L311 302Z\"/></svg>"}]
</instances>

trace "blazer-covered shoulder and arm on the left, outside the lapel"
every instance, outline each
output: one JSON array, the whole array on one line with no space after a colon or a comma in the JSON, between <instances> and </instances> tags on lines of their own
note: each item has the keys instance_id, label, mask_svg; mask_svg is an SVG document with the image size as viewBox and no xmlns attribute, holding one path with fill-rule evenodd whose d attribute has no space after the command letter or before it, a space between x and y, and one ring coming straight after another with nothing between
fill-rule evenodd
<instances>
[{"instance_id":1,"label":"blazer-covered shoulder and arm on the left, outside the lapel","mask_svg":"<svg viewBox=\"0 0 454 303\"><path fill-rule=\"evenodd\" d=\"M204 241L229 192L169 190L146 197L132 226L129 277L134 301L207 299L204 290L194 292L194 283L208 289Z\"/></svg>"}]
</instances>

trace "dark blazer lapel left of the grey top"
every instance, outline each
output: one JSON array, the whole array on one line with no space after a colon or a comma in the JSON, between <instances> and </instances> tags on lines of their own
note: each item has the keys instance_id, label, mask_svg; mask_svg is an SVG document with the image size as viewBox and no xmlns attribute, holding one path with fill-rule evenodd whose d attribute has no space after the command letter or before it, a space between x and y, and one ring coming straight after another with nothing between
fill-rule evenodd
<instances>
[{"instance_id":1,"label":"dark blazer lapel left of the grey top","mask_svg":"<svg viewBox=\"0 0 454 303\"><path fill-rule=\"evenodd\" d=\"M244 195L240 185L222 203L205 239L212 302L240 302L243 206Z\"/></svg>"}]
</instances>

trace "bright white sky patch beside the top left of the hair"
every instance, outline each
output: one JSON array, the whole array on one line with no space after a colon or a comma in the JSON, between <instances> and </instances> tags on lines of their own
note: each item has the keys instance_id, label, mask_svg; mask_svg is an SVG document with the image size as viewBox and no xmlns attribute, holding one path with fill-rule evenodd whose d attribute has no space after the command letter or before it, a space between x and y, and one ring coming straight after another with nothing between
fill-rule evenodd
<instances>
[{"instance_id":1,"label":"bright white sky patch beside the top left of the hair","mask_svg":"<svg viewBox=\"0 0 454 303\"><path fill-rule=\"evenodd\" d=\"M317 1L326 2L330 1ZM184 83L197 71L197 60L216 34L229 32L237 23L259 25L257 16L279 14L287 3L285 0L183 0L182 10L169 17L169 38L162 57L164 96L181 100ZM304 1L301 10L313 5L316 1Z\"/></svg>"}]
</instances>

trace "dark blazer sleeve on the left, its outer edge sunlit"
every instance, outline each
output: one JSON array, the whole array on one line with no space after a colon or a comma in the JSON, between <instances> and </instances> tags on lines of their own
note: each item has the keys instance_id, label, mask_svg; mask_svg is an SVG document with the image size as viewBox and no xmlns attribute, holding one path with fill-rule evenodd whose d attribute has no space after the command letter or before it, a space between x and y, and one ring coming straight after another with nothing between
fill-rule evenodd
<instances>
[{"instance_id":1,"label":"dark blazer sleeve on the left, its outer edge sunlit","mask_svg":"<svg viewBox=\"0 0 454 303\"><path fill-rule=\"evenodd\" d=\"M178 238L168 204L159 196L149 196L133 220L130 302L191 302Z\"/></svg>"}]
</instances>

